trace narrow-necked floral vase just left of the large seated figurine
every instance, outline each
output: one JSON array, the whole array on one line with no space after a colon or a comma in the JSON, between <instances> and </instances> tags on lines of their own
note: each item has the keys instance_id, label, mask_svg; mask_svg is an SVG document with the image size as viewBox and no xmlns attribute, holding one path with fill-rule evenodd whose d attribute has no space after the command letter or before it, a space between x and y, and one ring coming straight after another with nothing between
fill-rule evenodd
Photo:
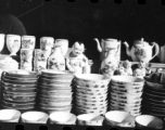
<instances>
[{"instance_id":1,"label":"narrow-necked floral vase just left of the large seated figurine","mask_svg":"<svg viewBox=\"0 0 165 130\"><path fill-rule=\"evenodd\" d=\"M65 70L65 58L60 47L56 47L53 53L49 56L48 69Z\"/></svg>"}]
</instances>

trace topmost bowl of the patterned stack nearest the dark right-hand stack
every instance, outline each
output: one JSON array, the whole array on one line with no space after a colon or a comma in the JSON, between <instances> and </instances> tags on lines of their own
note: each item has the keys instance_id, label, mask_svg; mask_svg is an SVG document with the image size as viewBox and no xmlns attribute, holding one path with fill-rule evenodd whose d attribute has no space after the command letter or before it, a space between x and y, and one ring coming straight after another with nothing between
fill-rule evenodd
<instances>
[{"instance_id":1,"label":"topmost bowl of the patterned stack nearest the dark right-hand stack","mask_svg":"<svg viewBox=\"0 0 165 130\"><path fill-rule=\"evenodd\" d=\"M132 76L112 76L111 82L119 86L143 86L144 80Z\"/></svg>"}]
</instances>

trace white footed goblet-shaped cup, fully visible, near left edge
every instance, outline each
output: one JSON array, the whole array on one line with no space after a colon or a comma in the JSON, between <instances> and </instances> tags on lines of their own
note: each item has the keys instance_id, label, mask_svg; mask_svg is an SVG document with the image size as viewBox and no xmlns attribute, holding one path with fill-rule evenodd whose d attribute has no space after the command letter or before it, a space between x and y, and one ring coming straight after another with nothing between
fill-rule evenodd
<instances>
[{"instance_id":1,"label":"white footed goblet-shaped cup, fully visible, near left edge","mask_svg":"<svg viewBox=\"0 0 165 130\"><path fill-rule=\"evenodd\" d=\"M21 36L18 35L7 35L7 47L11 52L10 55L16 55L16 52L21 48Z\"/></svg>"}]
</instances>

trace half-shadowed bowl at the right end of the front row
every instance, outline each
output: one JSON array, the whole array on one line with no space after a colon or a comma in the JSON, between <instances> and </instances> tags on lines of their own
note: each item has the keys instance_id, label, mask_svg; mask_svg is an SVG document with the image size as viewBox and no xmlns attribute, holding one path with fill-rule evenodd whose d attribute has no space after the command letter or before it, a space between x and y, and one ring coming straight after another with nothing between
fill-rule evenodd
<instances>
[{"instance_id":1,"label":"half-shadowed bowl at the right end of the front row","mask_svg":"<svg viewBox=\"0 0 165 130\"><path fill-rule=\"evenodd\" d=\"M163 120L158 117L151 115L140 115L136 117L136 123L138 128L152 128L162 129Z\"/></svg>"}]
</instances>

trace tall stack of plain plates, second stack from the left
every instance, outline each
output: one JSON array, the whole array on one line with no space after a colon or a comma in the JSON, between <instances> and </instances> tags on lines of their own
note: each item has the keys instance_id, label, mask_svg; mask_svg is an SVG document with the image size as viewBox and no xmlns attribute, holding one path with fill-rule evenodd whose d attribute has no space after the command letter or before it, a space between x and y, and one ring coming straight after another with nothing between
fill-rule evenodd
<instances>
[{"instance_id":1,"label":"tall stack of plain plates, second stack from the left","mask_svg":"<svg viewBox=\"0 0 165 130\"><path fill-rule=\"evenodd\" d=\"M39 109L48 114L71 112L73 78L74 75L69 72L42 70L39 80Z\"/></svg>"}]
</instances>

